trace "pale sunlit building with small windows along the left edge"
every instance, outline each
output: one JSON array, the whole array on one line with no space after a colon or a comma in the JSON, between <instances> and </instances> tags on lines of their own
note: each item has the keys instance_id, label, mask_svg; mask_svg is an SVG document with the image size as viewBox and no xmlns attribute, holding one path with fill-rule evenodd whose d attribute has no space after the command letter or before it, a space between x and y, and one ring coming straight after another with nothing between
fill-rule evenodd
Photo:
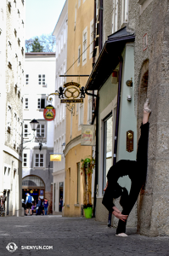
<instances>
[{"instance_id":1,"label":"pale sunlit building with small windows along the left edge","mask_svg":"<svg viewBox=\"0 0 169 256\"><path fill-rule=\"evenodd\" d=\"M0 101L3 121L0 147L0 192L5 214L21 214L24 1L0 3Z\"/></svg>"}]
</instances>

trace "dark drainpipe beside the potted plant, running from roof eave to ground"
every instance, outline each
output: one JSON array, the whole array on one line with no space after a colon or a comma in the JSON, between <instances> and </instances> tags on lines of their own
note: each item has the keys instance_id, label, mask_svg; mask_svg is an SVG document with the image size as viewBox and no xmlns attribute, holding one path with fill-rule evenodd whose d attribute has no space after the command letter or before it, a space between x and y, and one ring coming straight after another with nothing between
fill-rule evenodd
<instances>
[{"instance_id":1,"label":"dark drainpipe beside the potted plant, running from roof eave to ground","mask_svg":"<svg viewBox=\"0 0 169 256\"><path fill-rule=\"evenodd\" d=\"M94 113L94 118L92 125L94 123L94 119L96 118L96 148L95 148L95 177L94 177L94 200L93 200L93 218L96 213L96 195L97 195L97 186L98 186L98 163L99 163L99 93L98 95L92 94L85 90L85 93L90 96L96 97L96 110Z\"/></svg>"}]
</instances>

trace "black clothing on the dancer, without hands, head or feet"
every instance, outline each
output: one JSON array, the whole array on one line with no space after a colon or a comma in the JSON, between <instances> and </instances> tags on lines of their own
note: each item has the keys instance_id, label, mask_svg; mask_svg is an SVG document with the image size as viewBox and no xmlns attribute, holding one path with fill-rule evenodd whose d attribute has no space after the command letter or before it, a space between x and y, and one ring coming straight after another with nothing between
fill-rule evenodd
<instances>
[{"instance_id":1,"label":"black clothing on the dancer, without hands, head or feet","mask_svg":"<svg viewBox=\"0 0 169 256\"><path fill-rule=\"evenodd\" d=\"M108 172L108 188L105 190L103 204L112 212L113 198L112 191L115 188L115 183L119 177L128 175L131 178L131 189L127 198L127 202L123 207L122 214L129 215L132 211L132 207L138 199L140 189L142 188L146 173L147 173L147 151L148 151L148 140L149 140L149 123L141 125L141 137L138 141L138 153L137 160L120 160L110 168ZM119 220L116 234L126 232L127 221L123 222Z\"/></svg>"}]
</instances>

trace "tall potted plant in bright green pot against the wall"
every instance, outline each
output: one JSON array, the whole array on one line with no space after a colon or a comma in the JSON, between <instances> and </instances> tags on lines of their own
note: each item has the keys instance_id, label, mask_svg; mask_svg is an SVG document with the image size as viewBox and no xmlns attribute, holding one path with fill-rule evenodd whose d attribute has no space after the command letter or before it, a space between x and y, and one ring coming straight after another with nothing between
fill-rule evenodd
<instances>
[{"instance_id":1,"label":"tall potted plant in bright green pot against the wall","mask_svg":"<svg viewBox=\"0 0 169 256\"><path fill-rule=\"evenodd\" d=\"M81 174L83 175L83 209L86 218L92 218L92 174L95 160L89 156L81 160Z\"/></svg>"}]
</instances>

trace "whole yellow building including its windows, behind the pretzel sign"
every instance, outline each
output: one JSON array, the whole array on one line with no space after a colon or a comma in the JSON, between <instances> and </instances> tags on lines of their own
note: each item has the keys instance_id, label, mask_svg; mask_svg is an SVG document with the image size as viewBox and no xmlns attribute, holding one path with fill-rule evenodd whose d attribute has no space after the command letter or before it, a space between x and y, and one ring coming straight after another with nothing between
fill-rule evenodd
<instances>
[{"instance_id":1,"label":"whole yellow building including its windows, behind the pretzel sign","mask_svg":"<svg viewBox=\"0 0 169 256\"><path fill-rule=\"evenodd\" d=\"M89 75L93 63L93 7L94 1L68 1L67 75ZM69 77L85 86L87 78ZM92 97L83 103L67 105L65 138L65 216L81 216L83 180L80 162L92 155L91 146L81 146L82 125L92 120Z\"/></svg>"}]
</instances>

